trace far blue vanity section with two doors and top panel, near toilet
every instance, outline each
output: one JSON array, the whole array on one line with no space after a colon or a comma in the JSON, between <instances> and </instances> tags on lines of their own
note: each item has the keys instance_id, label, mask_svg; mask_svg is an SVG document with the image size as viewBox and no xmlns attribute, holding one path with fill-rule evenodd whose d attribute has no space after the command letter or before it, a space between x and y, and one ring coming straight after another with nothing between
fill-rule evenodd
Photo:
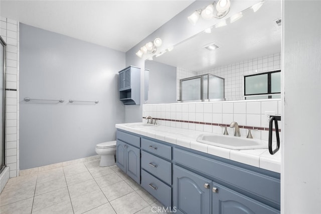
<instances>
[{"instance_id":1,"label":"far blue vanity section with two doors and top panel, near toilet","mask_svg":"<svg viewBox=\"0 0 321 214\"><path fill-rule=\"evenodd\" d=\"M116 135L116 165L140 183L140 137L121 131Z\"/></svg>"}]
</instances>

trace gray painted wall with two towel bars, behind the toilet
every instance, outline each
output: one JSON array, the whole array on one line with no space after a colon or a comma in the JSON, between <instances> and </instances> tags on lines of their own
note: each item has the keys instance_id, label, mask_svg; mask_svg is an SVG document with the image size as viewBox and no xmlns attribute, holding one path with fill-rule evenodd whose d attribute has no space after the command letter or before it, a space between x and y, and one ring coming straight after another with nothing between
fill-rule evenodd
<instances>
[{"instance_id":1,"label":"gray painted wall with two towel bars, behind the toilet","mask_svg":"<svg viewBox=\"0 0 321 214\"><path fill-rule=\"evenodd\" d=\"M114 140L115 124L125 121L118 95L123 68L123 52L21 24L20 169L95 155L97 143Z\"/></svg>"}]
</instances>

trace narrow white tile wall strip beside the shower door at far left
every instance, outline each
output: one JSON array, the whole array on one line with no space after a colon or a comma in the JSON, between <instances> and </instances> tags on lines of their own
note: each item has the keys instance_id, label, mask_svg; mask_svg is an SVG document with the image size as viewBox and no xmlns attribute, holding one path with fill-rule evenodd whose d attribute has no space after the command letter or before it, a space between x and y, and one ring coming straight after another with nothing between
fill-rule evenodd
<instances>
[{"instance_id":1,"label":"narrow white tile wall strip beside the shower door at far left","mask_svg":"<svg viewBox=\"0 0 321 214\"><path fill-rule=\"evenodd\" d=\"M19 175L19 23L1 17L0 35L7 43L6 164L10 177Z\"/></svg>"}]
</instances>

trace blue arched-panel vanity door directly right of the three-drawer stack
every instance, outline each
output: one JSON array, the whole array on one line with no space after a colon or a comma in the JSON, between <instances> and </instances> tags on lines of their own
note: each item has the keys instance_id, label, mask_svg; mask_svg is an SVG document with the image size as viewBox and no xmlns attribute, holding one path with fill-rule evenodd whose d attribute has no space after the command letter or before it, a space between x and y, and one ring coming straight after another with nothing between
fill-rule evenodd
<instances>
[{"instance_id":1,"label":"blue arched-panel vanity door directly right of the three-drawer stack","mask_svg":"<svg viewBox=\"0 0 321 214\"><path fill-rule=\"evenodd\" d=\"M211 213L211 180L174 165L173 207L177 213Z\"/></svg>"}]
</instances>

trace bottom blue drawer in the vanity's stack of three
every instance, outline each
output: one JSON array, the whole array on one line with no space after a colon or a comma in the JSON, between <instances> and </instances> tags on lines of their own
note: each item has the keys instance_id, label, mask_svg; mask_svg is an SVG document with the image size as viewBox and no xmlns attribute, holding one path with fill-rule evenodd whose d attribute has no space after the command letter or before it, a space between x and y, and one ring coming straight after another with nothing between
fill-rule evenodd
<instances>
[{"instance_id":1,"label":"bottom blue drawer in the vanity's stack of three","mask_svg":"<svg viewBox=\"0 0 321 214\"><path fill-rule=\"evenodd\" d=\"M172 187L141 170L141 186L165 206L172 206Z\"/></svg>"}]
</instances>

